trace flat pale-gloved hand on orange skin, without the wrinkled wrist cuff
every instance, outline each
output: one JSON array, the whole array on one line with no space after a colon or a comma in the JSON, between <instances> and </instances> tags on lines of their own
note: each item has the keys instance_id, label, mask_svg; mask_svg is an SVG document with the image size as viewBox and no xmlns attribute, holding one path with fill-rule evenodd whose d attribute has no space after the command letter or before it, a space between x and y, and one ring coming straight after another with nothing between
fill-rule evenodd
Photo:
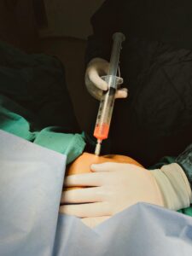
<instances>
[{"instance_id":1,"label":"flat pale-gloved hand on orange skin, without the wrinkled wrist cuff","mask_svg":"<svg viewBox=\"0 0 192 256\"><path fill-rule=\"evenodd\" d=\"M91 166L92 173L72 175L65 185L89 186L63 192L60 212L79 218L110 217L137 202L164 206L160 189L148 170L119 163Z\"/></svg>"}]
</instances>

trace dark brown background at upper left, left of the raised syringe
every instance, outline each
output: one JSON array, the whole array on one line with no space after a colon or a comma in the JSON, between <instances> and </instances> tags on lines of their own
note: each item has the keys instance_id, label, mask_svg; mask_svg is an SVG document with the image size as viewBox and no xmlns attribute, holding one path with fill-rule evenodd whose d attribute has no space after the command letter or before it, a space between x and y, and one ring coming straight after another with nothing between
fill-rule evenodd
<instances>
[{"instance_id":1,"label":"dark brown background at upper left, left of the raised syringe","mask_svg":"<svg viewBox=\"0 0 192 256\"><path fill-rule=\"evenodd\" d=\"M0 40L27 53L56 55L66 68L67 88L83 131L96 120L98 102L84 85L84 50L90 16L103 0L1 0Z\"/></svg>"}]
</instances>

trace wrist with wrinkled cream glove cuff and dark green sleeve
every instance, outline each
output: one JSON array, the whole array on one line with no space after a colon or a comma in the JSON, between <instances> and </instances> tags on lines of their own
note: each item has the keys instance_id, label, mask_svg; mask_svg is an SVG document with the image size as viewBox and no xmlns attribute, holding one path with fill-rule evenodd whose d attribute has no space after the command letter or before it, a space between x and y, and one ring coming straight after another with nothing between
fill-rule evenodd
<instances>
[{"instance_id":1,"label":"wrist with wrinkled cream glove cuff and dark green sleeve","mask_svg":"<svg viewBox=\"0 0 192 256\"><path fill-rule=\"evenodd\" d=\"M152 171L165 207L178 210L189 207L192 203L192 144L182 154L174 158L172 164L164 164Z\"/></svg>"}]
</instances>

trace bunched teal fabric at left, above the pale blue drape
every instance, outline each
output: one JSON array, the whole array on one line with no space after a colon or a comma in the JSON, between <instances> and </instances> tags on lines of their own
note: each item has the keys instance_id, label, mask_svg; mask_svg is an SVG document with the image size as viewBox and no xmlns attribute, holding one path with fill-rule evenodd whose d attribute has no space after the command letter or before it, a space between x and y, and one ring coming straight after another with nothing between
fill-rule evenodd
<instances>
[{"instance_id":1,"label":"bunched teal fabric at left, above the pale blue drape","mask_svg":"<svg viewBox=\"0 0 192 256\"><path fill-rule=\"evenodd\" d=\"M22 115L28 117L28 120ZM62 128L57 126L41 129L39 121L32 114L6 96L0 96L0 120L1 130L61 154L67 154L67 164L84 150L84 134L63 133Z\"/></svg>"}]
</instances>

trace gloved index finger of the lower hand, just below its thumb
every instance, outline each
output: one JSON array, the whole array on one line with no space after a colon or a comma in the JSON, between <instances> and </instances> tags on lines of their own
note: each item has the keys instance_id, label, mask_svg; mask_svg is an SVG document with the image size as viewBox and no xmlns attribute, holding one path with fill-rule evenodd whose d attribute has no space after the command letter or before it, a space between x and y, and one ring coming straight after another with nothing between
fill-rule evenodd
<instances>
[{"instance_id":1,"label":"gloved index finger of the lower hand, just below its thumb","mask_svg":"<svg viewBox=\"0 0 192 256\"><path fill-rule=\"evenodd\" d=\"M66 187L86 186L97 187L102 186L104 176L102 173L83 173L67 176L65 179Z\"/></svg>"}]
</instances>

